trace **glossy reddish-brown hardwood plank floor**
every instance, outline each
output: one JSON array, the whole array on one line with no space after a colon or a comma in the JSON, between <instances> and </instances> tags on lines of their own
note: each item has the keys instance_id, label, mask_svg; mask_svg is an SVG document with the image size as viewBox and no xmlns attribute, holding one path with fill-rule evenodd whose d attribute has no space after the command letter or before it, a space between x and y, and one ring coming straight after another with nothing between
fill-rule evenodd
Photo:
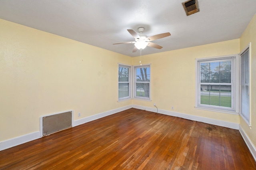
<instances>
[{"instance_id":1,"label":"glossy reddish-brown hardwood plank floor","mask_svg":"<svg viewBox=\"0 0 256 170\"><path fill-rule=\"evenodd\" d=\"M238 130L128 109L0 151L0 169L255 170Z\"/></svg>"}]
</instances>

